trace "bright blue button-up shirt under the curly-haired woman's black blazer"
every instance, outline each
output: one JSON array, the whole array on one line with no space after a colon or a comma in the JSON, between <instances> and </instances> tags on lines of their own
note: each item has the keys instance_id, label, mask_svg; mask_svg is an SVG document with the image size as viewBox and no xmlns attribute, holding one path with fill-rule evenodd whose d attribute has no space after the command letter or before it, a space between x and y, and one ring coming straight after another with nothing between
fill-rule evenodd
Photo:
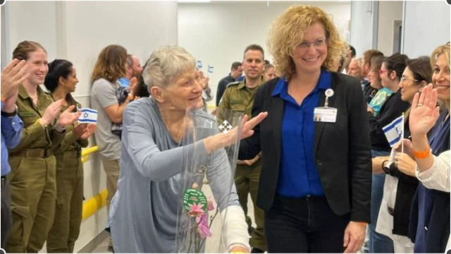
<instances>
[{"instance_id":1,"label":"bright blue button-up shirt under the curly-haired woman's black blazer","mask_svg":"<svg viewBox=\"0 0 451 254\"><path fill-rule=\"evenodd\" d=\"M292 198L307 195L323 196L324 190L319 179L314 157L315 122L314 108L319 105L319 96L330 88L332 75L321 70L318 84L305 97L302 104L288 95L288 83L281 77L272 96L285 100L282 120L282 153L278 194Z\"/></svg>"}]
</instances>

